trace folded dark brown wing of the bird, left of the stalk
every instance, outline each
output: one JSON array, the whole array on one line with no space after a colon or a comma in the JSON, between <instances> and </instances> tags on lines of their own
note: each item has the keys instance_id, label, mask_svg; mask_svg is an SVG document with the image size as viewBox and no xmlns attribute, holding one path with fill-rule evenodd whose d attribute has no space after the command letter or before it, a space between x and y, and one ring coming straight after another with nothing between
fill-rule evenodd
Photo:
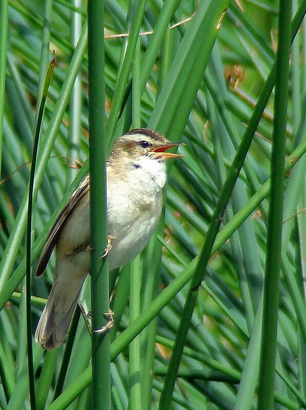
<instances>
[{"instance_id":1,"label":"folded dark brown wing of the bird, left of the stalk","mask_svg":"<svg viewBox=\"0 0 306 410\"><path fill-rule=\"evenodd\" d=\"M70 215L76 204L86 195L89 191L89 174L87 174L83 180L79 183L76 190L73 192L69 198L67 204L64 206L62 211L59 213L56 218L52 228L49 231L46 244L40 254L39 261L36 268L36 277L42 276L44 273L47 263L50 259L51 253L54 246L56 245L58 235L65 224L67 217Z\"/></svg>"}]
</instances>

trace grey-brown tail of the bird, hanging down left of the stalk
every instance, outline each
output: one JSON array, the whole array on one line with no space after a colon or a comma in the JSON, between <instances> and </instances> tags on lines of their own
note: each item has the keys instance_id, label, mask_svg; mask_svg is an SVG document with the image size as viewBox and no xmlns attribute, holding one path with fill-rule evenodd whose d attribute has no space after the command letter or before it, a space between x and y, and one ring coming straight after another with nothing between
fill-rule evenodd
<instances>
[{"instance_id":1,"label":"grey-brown tail of the bird, hanging down left of the stalk","mask_svg":"<svg viewBox=\"0 0 306 410\"><path fill-rule=\"evenodd\" d=\"M35 332L35 341L43 349L51 350L63 343L84 279L73 280L68 286L55 279Z\"/></svg>"}]
</instances>

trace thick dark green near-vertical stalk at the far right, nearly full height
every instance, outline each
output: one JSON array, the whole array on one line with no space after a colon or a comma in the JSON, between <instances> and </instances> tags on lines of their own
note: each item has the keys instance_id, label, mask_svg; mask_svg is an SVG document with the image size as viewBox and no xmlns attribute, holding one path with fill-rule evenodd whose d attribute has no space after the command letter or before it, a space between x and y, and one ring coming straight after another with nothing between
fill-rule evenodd
<instances>
[{"instance_id":1,"label":"thick dark green near-vertical stalk at the far right, nearly full height","mask_svg":"<svg viewBox=\"0 0 306 410\"><path fill-rule=\"evenodd\" d=\"M271 158L271 190L267 242L266 274L263 294L261 367L258 388L259 410L274 408L279 276L281 261L281 230L284 192L285 131L287 125L290 30L290 0L280 0L278 50L274 101L273 143Z\"/></svg>"}]
</instances>

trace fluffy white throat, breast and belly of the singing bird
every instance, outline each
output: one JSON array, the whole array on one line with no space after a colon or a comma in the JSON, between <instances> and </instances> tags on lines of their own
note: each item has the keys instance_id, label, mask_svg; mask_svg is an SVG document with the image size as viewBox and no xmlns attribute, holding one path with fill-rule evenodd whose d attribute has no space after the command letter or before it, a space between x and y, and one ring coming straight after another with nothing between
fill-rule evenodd
<instances>
[{"instance_id":1,"label":"fluffy white throat, breast and belly of the singing bird","mask_svg":"<svg viewBox=\"0 0 306 410\"><path fill-rule=\"evenodd\" d=\"M115 236L110 269L126 264L145 247L160 218L165 164L142 156L135 165L140 167L131 167L124 180L107 185L108 232Z\"/></svg>"}]
</instances>

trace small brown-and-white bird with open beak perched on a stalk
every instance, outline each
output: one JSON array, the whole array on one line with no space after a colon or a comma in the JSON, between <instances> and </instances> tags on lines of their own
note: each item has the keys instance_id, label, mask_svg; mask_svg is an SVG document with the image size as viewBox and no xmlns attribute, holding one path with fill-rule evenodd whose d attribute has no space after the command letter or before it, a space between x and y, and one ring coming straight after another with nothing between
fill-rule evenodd
<instances>
[{"instance_id":1,"label":"small brown-and-white bird with open beak perched on a stalk","mask_svg":"<svg viewBox=\"0 0 306 410\"><path fill-rule=\"evenodd\" d=\"M181 157L166 150L178 145L148 128L135 128L115 140L106 164L110 270L131 261L150 239L162 210L166 160ZM55 247L55 278L35 332L43 349L65 340L90 273L89 198L87 174L55 220L38 260L36 277L44 273Z\"/></svg>"}]
</instances>

